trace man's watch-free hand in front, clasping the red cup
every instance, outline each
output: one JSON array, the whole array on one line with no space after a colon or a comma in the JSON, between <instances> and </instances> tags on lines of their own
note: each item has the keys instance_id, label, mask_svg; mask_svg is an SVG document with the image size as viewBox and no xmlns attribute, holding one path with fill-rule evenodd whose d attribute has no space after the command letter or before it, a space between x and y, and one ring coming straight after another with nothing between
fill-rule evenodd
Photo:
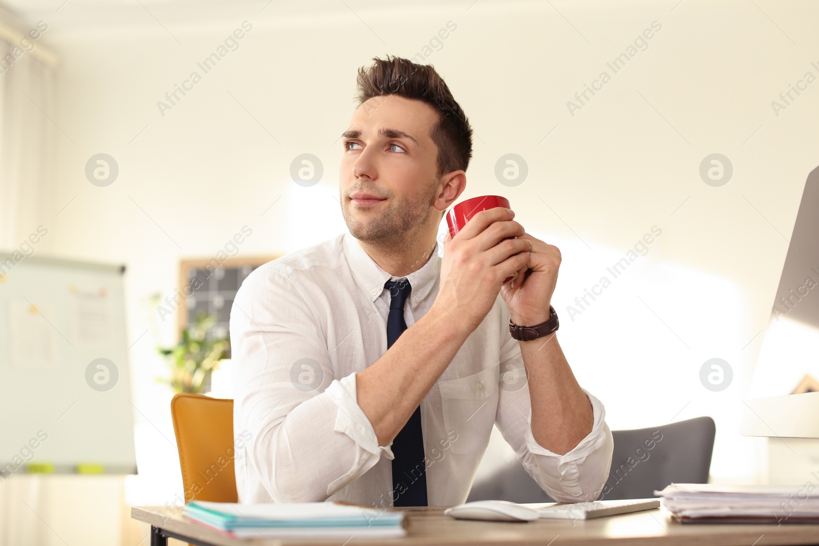
<instances>
[{"instance_id":1,"label":"man's watch-free hand in front, clasping the red cup","mask_svg":"<svg viewBox=\"0 0 819 546\"><path fill-rule=\"evenodd\" d=\"M455 238L444 240L439 306L473 332L495 305L504 279L526 271L532 242L514 212L503 207L482 210ZM510 281L511 282L511 281Z\"/></svg>"}]
</instances>

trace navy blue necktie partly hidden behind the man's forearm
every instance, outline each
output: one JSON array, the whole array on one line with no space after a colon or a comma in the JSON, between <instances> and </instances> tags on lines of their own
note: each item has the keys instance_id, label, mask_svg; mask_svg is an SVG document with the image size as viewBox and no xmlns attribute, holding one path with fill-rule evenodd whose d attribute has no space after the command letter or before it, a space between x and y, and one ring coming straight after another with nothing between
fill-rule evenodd
<instances>
[{"instance_id":1,"label":"navy blue necktie partly hidden behind the man's forearm","mask_svg":"<svg viewBox=\"0 0 819 546\"><path fill-rule=\"evenodd\" d=\"M387 281L390 291L390 314L387 317L387 349L407 329L404 304L409 297L409 281ZM421 407L392 440L392 504L393 506L427 506L427 467L423 463L423 431Z\"/></svg>"}]
</instances>

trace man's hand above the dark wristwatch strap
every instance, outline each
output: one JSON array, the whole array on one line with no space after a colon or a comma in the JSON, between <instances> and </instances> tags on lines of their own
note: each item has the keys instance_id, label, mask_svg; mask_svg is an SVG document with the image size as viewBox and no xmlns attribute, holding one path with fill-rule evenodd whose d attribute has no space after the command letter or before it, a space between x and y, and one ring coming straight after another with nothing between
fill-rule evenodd
<instances>
[{"instance_id":1,"label":"man's hand above the dark wristwatch strap","mask_svg":"<svg viewBox=\"0 0 819 546\"><path fill-rule=\"evenodd\" d=\"M532 241L531 258L517 277L500 287L500 296L509 306L513 323L535 326L549 320L549 306L558 281L560 250L528 233L523 233L523 238Z\"/></svg>"}]
</instances>

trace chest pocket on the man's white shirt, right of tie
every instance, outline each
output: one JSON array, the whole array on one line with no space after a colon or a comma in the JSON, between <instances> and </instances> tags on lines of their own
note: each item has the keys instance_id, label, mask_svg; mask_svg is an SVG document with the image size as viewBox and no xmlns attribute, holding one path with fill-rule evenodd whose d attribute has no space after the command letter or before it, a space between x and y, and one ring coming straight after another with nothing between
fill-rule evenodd
<instances>
[{"instance_id":1,"label":"chest pocket on the man's white shirt, right of tie","mask_svg":"<svg viewBox=\"0 0 819 546\"><path fill-rule=\"evenodd\" d=\"M486 368L467 377L439 381L441 408L447 435L458 439L450 444L456 455L483 453L495 424L498 405L498 368Z\"/></svg>"}]
</instances>

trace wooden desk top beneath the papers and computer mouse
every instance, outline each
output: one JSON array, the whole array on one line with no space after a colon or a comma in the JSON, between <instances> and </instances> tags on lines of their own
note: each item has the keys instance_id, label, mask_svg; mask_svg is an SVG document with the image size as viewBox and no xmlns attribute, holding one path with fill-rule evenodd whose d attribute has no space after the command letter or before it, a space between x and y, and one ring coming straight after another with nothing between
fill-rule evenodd
<instances>
[{"instance_id":1,"label":"wooden desk top beneath the papers and computer mouse","mask_svg":"<svg viewBox=\"0 0 819 546\"><path fill-rule=\"evenodd\" d=\"M658 509L589 521L506 523L453 520L443 508L408 509L409 529L403 539L229 539L181 516L181 507L131 508L131 517L152 526L151 546L165 546L167 538L201 546L354 546L355 544L540 544L589 546L618 541L640 546L771 546L819 544L819 525L713 525L672 521Z\"/></svg>"}]
</instances>

